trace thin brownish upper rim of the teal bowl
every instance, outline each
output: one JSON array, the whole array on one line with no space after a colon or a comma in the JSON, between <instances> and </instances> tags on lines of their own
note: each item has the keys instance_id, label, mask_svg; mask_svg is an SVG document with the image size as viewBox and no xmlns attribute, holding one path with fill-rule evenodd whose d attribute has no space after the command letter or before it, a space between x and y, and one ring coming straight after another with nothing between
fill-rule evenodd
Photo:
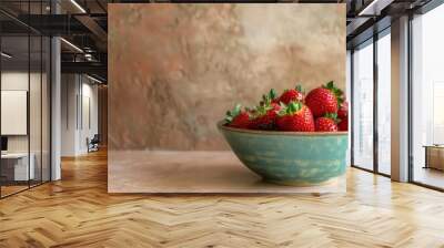
<instances>
[{"instance_id":1,"label":"thin brownish upper rim of the teal bowl","mask_svg":"<svg viewBox=\"0 0 444 248\"><path fill-rule=\"evenodd\" d=\"M233 133L249 133L249 134L263 134L263 135L285 135L285 136L343 136L347 135L349 132L285 132L285 131L262 131L262 130L244 130L225 126L225 121L218 122L218 127L223 131L230 131Z\"/></svg>"}]
</instances>

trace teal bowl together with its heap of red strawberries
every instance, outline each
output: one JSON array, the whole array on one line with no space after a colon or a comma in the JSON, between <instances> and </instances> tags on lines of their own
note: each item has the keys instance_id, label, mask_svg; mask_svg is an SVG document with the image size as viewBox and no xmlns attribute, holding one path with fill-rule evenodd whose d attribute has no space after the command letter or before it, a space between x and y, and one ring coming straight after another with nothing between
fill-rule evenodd
<instances>
[{"instance_id":1,"label":"teal bowl together with its heap of red strawberries","mask_svg":"<svg viewBox=\"0 0 444 248\"><path fill-rule=\"evenodd\" d=\"M347 107L333 82L306 96L301 87L253 108L238 104L218 127L238 158L264 180L293 186L327 184L345 174Z\"/></svg>"}]
</instances>

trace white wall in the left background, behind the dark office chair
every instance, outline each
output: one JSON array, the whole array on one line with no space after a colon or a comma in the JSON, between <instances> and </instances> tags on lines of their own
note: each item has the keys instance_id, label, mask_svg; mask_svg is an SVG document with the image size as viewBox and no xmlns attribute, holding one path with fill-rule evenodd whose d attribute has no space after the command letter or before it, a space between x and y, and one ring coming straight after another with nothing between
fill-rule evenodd
<instances>
[{"instance_id":1,"label":"white wall in the left background, behind the dark office chair","mask_svg":"<svg viewBox=\"0 0 444 248\"><path fill-rule=\"evenodd\" d=\"M82 155L87 138L98 133L98 86L79 74L62 74L61 81L61 155Z\"/></svg>"}]
</instances>

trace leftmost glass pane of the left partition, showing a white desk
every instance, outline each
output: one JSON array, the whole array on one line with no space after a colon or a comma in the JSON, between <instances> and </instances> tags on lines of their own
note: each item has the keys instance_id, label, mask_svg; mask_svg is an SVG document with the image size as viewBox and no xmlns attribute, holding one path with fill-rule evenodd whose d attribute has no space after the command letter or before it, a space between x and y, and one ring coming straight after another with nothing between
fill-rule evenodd
<instances>
[{"instance_id":1,"label":"leftmost glass pane of the left partition, showing a white desk","mask_svg":"<svg viewBox=\"0 0 444 248\"><path fill-rule=\"evenodd\" d=\"M29 166L29 37L2 37L1 49L1 176L2 196L28 188ZM32 163L31 163L32 165Z\"/></svg>"}]
</instances>

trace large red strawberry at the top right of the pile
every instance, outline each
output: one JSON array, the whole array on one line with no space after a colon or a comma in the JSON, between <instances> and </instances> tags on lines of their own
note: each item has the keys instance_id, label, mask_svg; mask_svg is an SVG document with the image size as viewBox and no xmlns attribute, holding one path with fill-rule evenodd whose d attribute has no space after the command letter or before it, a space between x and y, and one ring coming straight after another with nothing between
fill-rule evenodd
<instances>
[{"instance_id":1,"label":"large red strawberry at the top right of the pile","mask_svg":"<svg viewBox=\"0 0 444 248\"><path fill-rule=\"evenodd\" d=\"M314 89L305 97L305 104L313 112L314 117L324 116L326 113L337 113L337 106L343 101L343 92L334 86L333 81Z\"/></svg>"}]
</instances>

